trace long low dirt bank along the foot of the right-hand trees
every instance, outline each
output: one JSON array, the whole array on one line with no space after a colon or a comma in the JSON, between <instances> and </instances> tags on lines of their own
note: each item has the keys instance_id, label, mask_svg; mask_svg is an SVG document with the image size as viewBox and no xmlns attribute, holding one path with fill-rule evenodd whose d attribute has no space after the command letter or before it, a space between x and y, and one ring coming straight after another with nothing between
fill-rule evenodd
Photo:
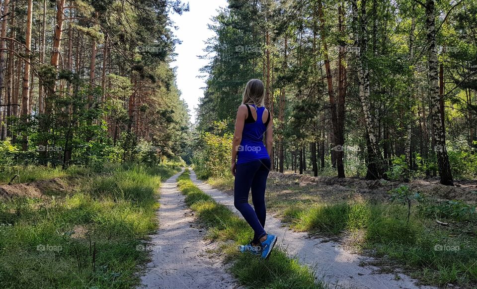
<instances>
[{"instance_id":1,"label":"long low dirt bank along the foot of the right-hand trees","mask_svg":"<svg viewBox=\"0 0 477 289\"><path fill-rule=\"evenodd\" d=\"M438 180L417 180L410 183L389 182L386 180L366 181L353 178L336 177L312 177L298 174L283 174L270 172L270 177L299 182L301 184L322 184L328 186L343 186L355 189L361 193L386 193L389 190L407 185L413 191L424 193L436 198L460 199L470 202L477 201L477 182L476 181L456 181L456 187L444 186L439 184Z\"/></svg>"}]
</instances>

